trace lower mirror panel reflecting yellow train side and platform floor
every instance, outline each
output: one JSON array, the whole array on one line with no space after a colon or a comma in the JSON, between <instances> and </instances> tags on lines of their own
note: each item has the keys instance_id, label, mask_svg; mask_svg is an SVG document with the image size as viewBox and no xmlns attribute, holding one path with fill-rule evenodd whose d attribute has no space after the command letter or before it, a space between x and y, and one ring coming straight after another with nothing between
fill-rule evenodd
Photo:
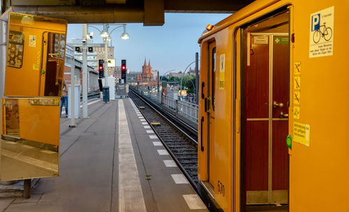
<instances>
[{"instance_id":1,"label":"lower mirror panel reflecting yellow train side and platform floor","mask_svg":"<svg viewBox=\"0 0 349 212\"><path fill-rule=\"evenodd\" d=\"M59 98L3 98L0 181L58 176Z\"/></svg>"}]
</instances>

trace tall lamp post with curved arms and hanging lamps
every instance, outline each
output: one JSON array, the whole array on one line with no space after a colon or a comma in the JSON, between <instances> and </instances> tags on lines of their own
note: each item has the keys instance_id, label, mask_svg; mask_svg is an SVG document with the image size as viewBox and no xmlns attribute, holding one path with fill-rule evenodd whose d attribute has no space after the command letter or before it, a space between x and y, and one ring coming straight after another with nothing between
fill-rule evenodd
<instances>
[{"instance_id":1,"label":"tall lamp post with curved arms and hanging lamps","mask_svg":"<svg viewBox=\"0 0 349 212\"><path fill-rule=\"evenodd\" d=\"M110 37L110 35L112 34L112 32L120 27L124 27L124 32L121 34L120 38L121 39L128 39L130 38L130 35L128 33L126 33L126 24L94 24L94 25L103 25L103 31L99 30L97 27L88 25L88 27L92 27L94 29L97 29L100 33L100 36L103 38L103 43L104 43L104 77L105 77L105 86L108 85L108 78L109 77L109 73L107 71L107 59L108 59L108 42L110 40L112 40L112 38ZM112 31L109 32L109 28L110 26L118 26L118 27L114 27L114 29L112 29Z\"/></svg>"}]
</instances>

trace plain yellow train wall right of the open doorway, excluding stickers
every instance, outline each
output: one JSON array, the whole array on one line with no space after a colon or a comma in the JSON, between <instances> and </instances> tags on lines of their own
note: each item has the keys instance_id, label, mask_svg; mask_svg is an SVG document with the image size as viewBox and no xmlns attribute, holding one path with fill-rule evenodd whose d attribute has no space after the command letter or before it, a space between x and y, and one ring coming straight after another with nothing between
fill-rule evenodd
<instances>
[{"instance_id":1,"label":"plain yellow train wall right of the open doorway, excluding stickers","mask_svg":"<svg viewBox=\"0 0 349 212\"><path fill-rule=\"evenodd\" d=\"M294 122L309 124L310 144L292 142L290 211L349 211L345 204L349 190L349 72L344 41L349 33L349 1L294 1L293 5L295 43L290 68L293 70L295 62L302 63L302 81L300 119L291 116L290 135L294 135ZM311 14L332 6L333 55L309 58ZM292 86L295 76L291 73ZM291 105L290 114L294 109Z\"/></svg>"}]
</instances>

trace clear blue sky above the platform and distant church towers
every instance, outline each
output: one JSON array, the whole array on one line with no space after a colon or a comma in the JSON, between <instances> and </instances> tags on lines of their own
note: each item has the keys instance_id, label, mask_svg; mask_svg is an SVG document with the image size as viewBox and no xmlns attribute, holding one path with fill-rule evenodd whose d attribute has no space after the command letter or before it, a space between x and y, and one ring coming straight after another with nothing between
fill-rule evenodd
<instances>
[{"instance_id":1,"label":"clear blue sky above the platform and distant church towers","mask_svg":"<svg viewBox=\"0 0 349 212\"><path fill-rule=\"evenodd\" d=\"M195 61L195 52L200 52L198 39L207 24L216 24L230 14L190 14L165 13L165 24L162 27L143 27L143 24L127 24L126 32L130 39L120 38L123 28L112 32L112 45L115 47L115 59L120 66L121 59L126 59L130 71L142 71L144 58L150 59L153 70L164 74L184 71ZM103 26L96 26L102 30ZM110 27L110 31L114 27ZM99 32L89 27L88 33L94 31L94 43L103 43ZM68 24L67 43L72 38L82 38L82 24ZM195 63L191 66L195 68Z\"/></svg>"}]
</instances>

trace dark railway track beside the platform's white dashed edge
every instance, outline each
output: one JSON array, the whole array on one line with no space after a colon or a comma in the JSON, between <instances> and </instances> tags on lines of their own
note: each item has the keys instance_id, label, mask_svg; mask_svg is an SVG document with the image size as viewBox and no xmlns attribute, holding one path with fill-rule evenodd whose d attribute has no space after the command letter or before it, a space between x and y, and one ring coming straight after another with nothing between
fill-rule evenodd
<instances>
[{"instance_id":1,"label":"dark railway track beside the platform's white dashed edge","mask_svg":"<svg viewBox=\"0 0 349 212\"><path fill-rule=\"evenodd\" d=\"M168 150L181 171L186 175L188 181L195 189L198 186L198 132L176 120L178 118L168 115L160 107L140 96L131 89L128 96L132 98L135 105L144 107L140 109L144 118L149 123L160 123L151 125L163 145ZM196 132L196 133L195 133Z\"/></svg>"}]
</instances>

